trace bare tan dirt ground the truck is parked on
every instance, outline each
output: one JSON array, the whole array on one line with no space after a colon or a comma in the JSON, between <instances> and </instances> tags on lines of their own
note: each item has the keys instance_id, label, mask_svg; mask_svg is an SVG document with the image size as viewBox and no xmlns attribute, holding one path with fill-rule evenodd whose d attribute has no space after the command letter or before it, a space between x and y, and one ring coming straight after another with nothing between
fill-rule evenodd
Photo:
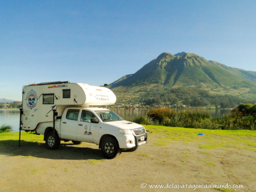
<instances>
[{"instance_id":1,"label":"bare tan dirt ground the truck is parked on","mask_svg":"<svg viewBox=\"0 0 256 192\"><path fill-rule=\"evenodd\" d=\"M163 134L154 134L153 129L147 144L109 160L95 144L61 142L58 150L51 151L42 136L35 138L38 142L22 140L21 147L16 141L0 141L0 191L256 191L255 150L200 147L204 140L184 138L162 142ZM150 188L211 183L243 184L243 188Z\"/></svg>"}]
</instances>

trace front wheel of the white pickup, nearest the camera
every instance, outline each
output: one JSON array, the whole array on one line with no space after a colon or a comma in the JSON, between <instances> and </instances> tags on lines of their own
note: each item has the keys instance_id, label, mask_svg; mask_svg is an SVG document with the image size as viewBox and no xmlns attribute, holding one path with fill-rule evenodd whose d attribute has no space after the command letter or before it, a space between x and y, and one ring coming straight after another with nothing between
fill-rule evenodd
<instances>
[{"instance_id":1,"label":"front wheel of the white pickup, nearest the camera","mask_svg":"<svg viewBox=\"0 0 256 192\"><path fill-rule=\"evenodd\" d=\"M117 141L112 137L105 137L101 143L101 152L108 159L113 159L121 152Z\"/></svg>"}]
</instances>

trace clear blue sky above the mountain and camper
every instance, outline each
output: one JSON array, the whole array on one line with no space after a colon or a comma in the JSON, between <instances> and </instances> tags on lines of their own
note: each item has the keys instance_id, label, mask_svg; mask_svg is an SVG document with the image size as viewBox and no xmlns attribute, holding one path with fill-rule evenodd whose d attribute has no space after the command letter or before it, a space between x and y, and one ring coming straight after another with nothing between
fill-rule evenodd
<instances>
[{"instance_id":1,"label":"clear blue sky above the mountain and camper","mask_svg":"<svg viewBox=\"0 0 256 192\"><path fill-rule=\"evenodd\" d=\"M49 81L95 86L185 51L256 71L256 1L1 1L0 98Z\"/></svg>"}]
</instances>

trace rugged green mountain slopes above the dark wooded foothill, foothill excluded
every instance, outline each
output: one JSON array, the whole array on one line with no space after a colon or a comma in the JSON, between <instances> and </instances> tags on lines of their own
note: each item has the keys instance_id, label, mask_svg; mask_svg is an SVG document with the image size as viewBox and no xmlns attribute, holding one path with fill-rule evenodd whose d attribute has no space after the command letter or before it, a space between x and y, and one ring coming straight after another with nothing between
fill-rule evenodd
<instances>
[{"instance_id":1,"label":"rugged green mountain slopes above the dark wooded foothill, foothill excluded","mask_svg":"<svg viewBox=\"0 0 256 192\"><path fill-rule=\"evenodd\" d=\"M134 74L125 75L110 84L117 96L138 98L139 92L151 88L171 90L196 87L214 94L255 97L256 72L231 68L208 61L194 53L162 53ZM127 91L129 90L129 91Z\"/></svg>"}]
</instances>

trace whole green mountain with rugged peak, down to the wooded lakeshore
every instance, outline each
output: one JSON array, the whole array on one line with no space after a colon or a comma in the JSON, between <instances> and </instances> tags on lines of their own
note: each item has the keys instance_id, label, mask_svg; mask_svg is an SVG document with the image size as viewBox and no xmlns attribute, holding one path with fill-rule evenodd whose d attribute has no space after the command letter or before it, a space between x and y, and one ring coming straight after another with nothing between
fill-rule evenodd
<instances>
[{"instance_id":1,"label":"whole green mountain with rugged peak, down to the wooded lakeshore","mask_svg":"<svg viewBox=\"0 0 256 192\"><path fill-rule=\"evenodd\" d=\"M225 99L230 101L236 96L255 100L255 87L256 72L227 67L216 61L207 61L197 54L185 52L175 55L161 53L136 73L125 75L109 86L119 101L163 101L172 104L177 103L177 99L182 99L185 103L192 99L195 103L205 101L218 104ZM178 95L174 96L174 93ZM232 106L236 104L234 100L230 103ZM195 104L198 105L203 106Z\"/></svg>"}]
</instances>

